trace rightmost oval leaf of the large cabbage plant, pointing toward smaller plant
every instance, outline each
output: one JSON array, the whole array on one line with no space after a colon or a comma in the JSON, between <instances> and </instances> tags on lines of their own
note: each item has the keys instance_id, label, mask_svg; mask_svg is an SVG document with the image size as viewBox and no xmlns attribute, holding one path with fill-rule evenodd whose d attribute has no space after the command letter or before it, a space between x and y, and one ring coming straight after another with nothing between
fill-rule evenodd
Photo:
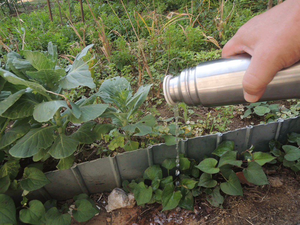
<instances>
[{"instance_id":1,"label":"rightmost oval leaf of the large cabbage plant, pointing toward smaller plant","mask_svg":"<svg viewBox=\"0 0 300 225\"><path fill-rule=\"evenodd\" d=\"M79 107L81 116L78 119L70 112L70 109L67 109L67 119L72 123L85 123L101 116L101 114L107 109L107 107L107 104L93 104Z\"/></svg>"}]
</instances>

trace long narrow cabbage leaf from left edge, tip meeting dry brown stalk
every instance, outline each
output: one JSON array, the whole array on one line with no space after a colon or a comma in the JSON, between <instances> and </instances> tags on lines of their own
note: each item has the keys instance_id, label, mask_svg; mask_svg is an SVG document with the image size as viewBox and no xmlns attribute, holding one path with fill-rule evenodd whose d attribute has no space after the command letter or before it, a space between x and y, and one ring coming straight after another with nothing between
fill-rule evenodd
<instances>
[{"instance_id":1,"label":"long narrow cabbage leaf from left edge, tip meeting dry brown stalk","mask_svg":"<svg viewBox=\"0 0 300 225\"><path fill-rule=\"evenodd\" d=\"M3 70L1 68L0 68L0 76L2 76L4 79L6 79L8 82L10 82L12 84L25 85L25 86L31 88L32 90L40 93L41 95L48 97L46 89L38 83L21 79L18 76L14 75L13 73L10 73L9 71Z\"/></svg>"}]
</instances>

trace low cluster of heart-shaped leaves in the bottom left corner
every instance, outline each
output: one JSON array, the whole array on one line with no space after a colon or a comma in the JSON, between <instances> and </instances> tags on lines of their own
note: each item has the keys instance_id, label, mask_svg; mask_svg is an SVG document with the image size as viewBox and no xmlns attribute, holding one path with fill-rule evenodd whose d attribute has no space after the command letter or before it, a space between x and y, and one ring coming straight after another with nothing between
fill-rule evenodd
<instances>
[{"instance_id":1,"label":"low cluster of heart-shaped leaves in the bottom left corner","mask_svg":"<svg viewBox=\"0 0 300 225\"><path fill-rule=\"evenodd\" d=\"M95 202L87 194L74 196L74 205L70 206L71 213L78 222L85 222L99 212ZM71 215L67 205L61 209L57 208L56 200L48 200L44 204L39 200L31 200L24 196L21 206L18 207L19 214L16 214L16 206L13 199L5 194L0 194L0 218L4 224L19 224L20 221L29 224L71 224Z\"/></svg>"}]
</instances>

